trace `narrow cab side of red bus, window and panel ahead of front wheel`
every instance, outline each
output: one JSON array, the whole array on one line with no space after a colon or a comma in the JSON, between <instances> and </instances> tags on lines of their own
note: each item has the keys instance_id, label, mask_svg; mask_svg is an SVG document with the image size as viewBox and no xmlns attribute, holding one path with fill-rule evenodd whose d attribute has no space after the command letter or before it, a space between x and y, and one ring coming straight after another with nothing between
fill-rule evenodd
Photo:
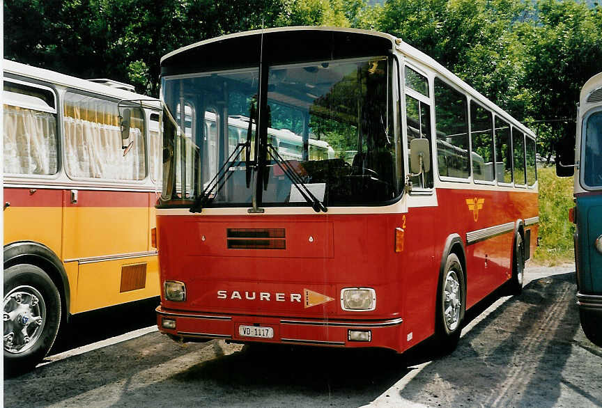
<instances>
[{"instance_id":1,"label":"narrow cab side of red bus, window and panel ahead of front wheel","mask_svg":"<svg viewBox=\"0 0 602 408\"><path fill-rule=\"evenodd\" d=\"M433 333L434 320L430 322L429 320L432 319L424 317L434 315L435 304L425 299L431 299L435 295L440 257L434 256L433 253L437 196L433 191L432 108L429 81L425 75L406 65L403 68L402 84L404 84L403 102L405 102L405 112L402 110L403 139L407 141L406 174L410 173L411 141L427 139L431 146L430 170L409 178L412 187L406 198L408 213L403 214L401 219L401 228L405 235L403 252L406 253L406 258L403 258L402 281L404 285L412 287L412 290L403 291L406 294L403 322L408 341L406 345L412 345Z\"/></svg>"}]
</instances>

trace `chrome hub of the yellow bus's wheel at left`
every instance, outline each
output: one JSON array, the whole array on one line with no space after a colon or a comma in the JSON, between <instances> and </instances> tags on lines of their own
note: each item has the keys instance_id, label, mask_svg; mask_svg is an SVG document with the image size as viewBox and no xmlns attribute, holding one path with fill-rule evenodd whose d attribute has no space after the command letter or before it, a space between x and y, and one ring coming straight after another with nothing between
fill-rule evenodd
<instances>
[{"instance_id":1,"label":"chrome hub of the yellow bus's wheel at left","mask_svg":"<svg viewBox=\"0 0 602 408\"><path fill-rule=\"evenodd\" d=\"M46 322L44 298L31 286L19 286L4 297L4 350L20 354L36 344Z\"/></svg>"}]
</instances>

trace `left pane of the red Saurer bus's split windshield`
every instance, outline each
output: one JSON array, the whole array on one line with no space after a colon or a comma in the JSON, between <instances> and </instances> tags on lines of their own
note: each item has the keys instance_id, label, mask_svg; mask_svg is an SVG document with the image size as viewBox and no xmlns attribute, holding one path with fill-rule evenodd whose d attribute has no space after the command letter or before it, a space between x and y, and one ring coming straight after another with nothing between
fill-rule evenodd
<instances>
[{"instance_id":1,"label":"left pane of the red Saurer bus's split windshield","mask_svg":"<svg viewBox=\"0 0 602 408\"><path fill-rule=\"evenodd\" d=\"M214 204L251 203L254 169L246 164L254 159L257 91L258 69L162 80L164 173L171 174L164 200L190 201L206 191ZM242 146L247 138L250 149Z\"/></svg>"}]
</instances>

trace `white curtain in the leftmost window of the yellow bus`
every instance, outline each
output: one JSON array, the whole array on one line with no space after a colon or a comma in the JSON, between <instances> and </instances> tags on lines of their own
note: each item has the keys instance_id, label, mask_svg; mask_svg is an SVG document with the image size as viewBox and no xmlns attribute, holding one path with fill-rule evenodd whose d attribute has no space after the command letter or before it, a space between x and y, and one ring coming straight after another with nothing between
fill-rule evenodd
<instances>
[{"instance_id":1,"label":"white curtain in the leftmost window of the yellow bus","mask_svg":"<svg viewBox=\"0 0 602 408\"><path fill-rule=\"evenodd\" d=\"M56 173L56 116L5 104L3 149L4 173Z\"/></svg>"}]
</instances>

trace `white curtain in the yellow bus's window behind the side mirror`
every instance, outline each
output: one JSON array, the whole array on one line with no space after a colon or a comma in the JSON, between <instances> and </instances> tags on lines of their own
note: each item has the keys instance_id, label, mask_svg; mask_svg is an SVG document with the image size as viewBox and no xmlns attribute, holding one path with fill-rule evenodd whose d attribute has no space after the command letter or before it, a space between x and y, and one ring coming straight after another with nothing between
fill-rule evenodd
<instances>
[{"instance_id":1,"label":"white curtain in the yellow bus's window behind the side mirror","mask_svg":"<svg viewBox=\"0 0 602 408\"><path fill-rule=\"evenodd\" d=\"M120 127L65 117L68 174L111 180L144 179L144 137L139 128L130 128L125 146L131 141L134 145L124 157Z\"/></svg>"}]
</instances>

